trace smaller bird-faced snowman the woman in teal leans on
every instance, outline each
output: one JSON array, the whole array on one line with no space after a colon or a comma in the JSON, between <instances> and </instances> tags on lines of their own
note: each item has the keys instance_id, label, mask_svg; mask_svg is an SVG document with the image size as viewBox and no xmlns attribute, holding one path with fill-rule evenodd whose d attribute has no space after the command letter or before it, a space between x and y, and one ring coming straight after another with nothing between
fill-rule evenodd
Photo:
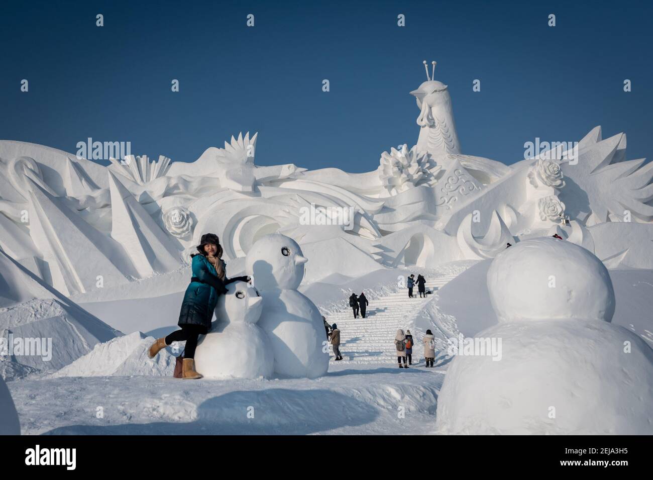
<instances>
[{"instance_id":1,"label":"smaller bird-faced snowman the woman in teal leans on","mask_svg":"<svg viewBox=\"0 0 653 480\"><path fill-rule=\"evenodd\" d=\"M270 340L257 325L263 301L244 281L227 285L215 306L216 320L195 351L195 366L205 378L269 378L274 368Z\"/></svg>"}]
</instances>

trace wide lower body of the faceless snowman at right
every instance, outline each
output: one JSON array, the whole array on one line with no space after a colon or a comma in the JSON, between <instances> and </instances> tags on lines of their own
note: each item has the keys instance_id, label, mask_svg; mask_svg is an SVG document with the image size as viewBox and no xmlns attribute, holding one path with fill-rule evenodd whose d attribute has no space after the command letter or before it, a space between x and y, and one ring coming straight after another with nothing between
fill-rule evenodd
<instances>
[{"instance_id":1,"label":"wide lower body of the faceless snowman at right","mask_svg":"<svg viewBox=\"0 0 653 480\"><path fill-rule=\"evenodd\" d=\"M499 323L479 337L501 338L502 357L456 355L439 434L653 434L653 350L626 328L558 319Z\"/></svg>"}]
</instances>

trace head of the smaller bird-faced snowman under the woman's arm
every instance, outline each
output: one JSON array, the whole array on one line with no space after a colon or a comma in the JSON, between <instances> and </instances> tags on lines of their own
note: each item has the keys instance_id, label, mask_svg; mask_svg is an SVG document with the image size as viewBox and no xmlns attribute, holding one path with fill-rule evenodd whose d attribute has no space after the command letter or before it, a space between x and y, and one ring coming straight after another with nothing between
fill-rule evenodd
<instances>
[{"instance_id":1,"label":"head of the smaller bird-faced snowman under the woman's arm","mask_svg":"<svg viewBox=\"0 0 653 480\"><path fill-rule=\"evenodd\" d=\"M263 298L259 291L245 281L234 281L229 290L220 295L215 306L215 317L222 325L229 323L257 323L261 317Z\"/></svg>"}]
</instances>

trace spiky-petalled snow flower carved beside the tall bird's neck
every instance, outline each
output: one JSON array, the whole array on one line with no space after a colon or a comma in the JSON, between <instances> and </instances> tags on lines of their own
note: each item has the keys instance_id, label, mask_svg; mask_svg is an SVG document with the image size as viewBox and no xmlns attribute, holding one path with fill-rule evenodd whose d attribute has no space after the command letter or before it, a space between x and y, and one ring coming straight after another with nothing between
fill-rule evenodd
<instances>
[{"instance_id":1,"label":"spiky-petalled snow flower carved beside the tall bird's neck","mask_svg":"<svg viewBox=\"0 0 653 480\"><path fill-rule=\"evenodd\" d=\"M429 155L419 155L415 147L408 150L404 144L401 150L390 148L390 153L381 153L381 165L377 172L390 195L396 195L428 182L440 168L431 164Z\"/></svg>"}]
</instances>

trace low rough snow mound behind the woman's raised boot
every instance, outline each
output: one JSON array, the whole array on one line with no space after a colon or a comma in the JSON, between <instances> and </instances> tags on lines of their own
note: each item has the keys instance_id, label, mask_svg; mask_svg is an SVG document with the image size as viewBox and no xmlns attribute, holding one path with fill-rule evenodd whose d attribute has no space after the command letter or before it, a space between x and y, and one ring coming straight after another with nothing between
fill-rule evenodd
<instances>
[{"instance_id":1,"label":"low rough snow mound behind the woman's raised boot","mask_svg":"<svg viewBox=\"0 0 653 480\"><path fill-rule=\"evenodd\" d=\"M153 359L148 358L148 349L154 341L155 338L142 332L114 338L95 345L90 353L50 377L172 376L176 357L167 349Z\"/></svg>"}]
</instances>

